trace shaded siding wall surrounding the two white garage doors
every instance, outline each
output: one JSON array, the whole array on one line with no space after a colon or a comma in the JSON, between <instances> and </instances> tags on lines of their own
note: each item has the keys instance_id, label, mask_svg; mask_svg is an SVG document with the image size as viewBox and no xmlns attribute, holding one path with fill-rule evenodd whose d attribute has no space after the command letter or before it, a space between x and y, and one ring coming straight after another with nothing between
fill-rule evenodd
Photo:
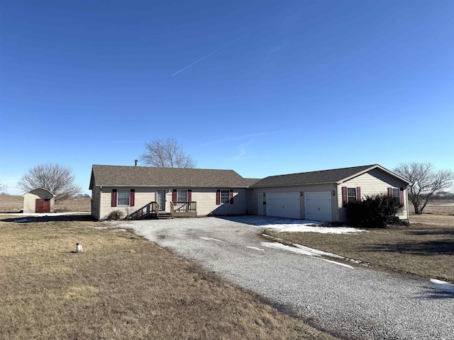
<instances>
[{"instance_id":1,"label":"shaded siding wall surrounding the two white garage doors","mask_svg":"<svg viewBox=\"0 0 454 340\"><path fill-rule=\"evenodd\" d=\"M314 184L310 186L285 186L285 187L277 187L277 188L254 188L252 194L252 204L253 206L253 214L258 215L258 194L265 193L303 193L301 196L300 202L300 212L301 212L301 219L306 217L306 210L304 209L304 193L314 193L314 192L332 192L335 190L335 186L332 184ZM336 191L335 191L336 193ZM266 197L265 197L266 200ZM337 200L335 197L331 198L331 216L333 217L333 221L337 216ZM266 208L264 207L263 213L266 215Z\"/></svg>"}]
</instances>

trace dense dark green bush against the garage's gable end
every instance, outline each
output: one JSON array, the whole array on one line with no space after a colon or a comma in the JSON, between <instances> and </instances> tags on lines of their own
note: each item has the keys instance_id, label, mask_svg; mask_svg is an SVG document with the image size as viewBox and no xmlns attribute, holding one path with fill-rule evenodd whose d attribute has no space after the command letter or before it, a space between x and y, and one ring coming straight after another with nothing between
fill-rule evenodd
<instances>
[{"instance_id":1,"label":"dense dark green bush against the garage's gable end","mask_svg":"<svg viewBox=\"0 0 454 340\"><path fill-rule=\"evenodd\" d=\"M348 220L356 227L385 228L398 222L402 210L399 198L387 195L365 196L345 204Z\"/></svg>"}]
</instances>

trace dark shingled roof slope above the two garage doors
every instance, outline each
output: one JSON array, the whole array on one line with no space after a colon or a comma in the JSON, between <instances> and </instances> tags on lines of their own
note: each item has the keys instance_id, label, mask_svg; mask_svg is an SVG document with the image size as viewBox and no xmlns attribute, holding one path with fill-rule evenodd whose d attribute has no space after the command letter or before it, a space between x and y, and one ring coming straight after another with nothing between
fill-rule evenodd
<instances>
[{"instance_id":1,"label":"dark shingled roof slope above the two garage doors","mask_svg":"<svg viewBox=\"0 0 454 340\"><path fill-rule=\"evenodd\" d=\"M353 166L351 168L343 169L332 169L332 170L323 170L323 171L311 171L311 172L301 172L299 174L289 174L289 175L279 175L279 176L269 176L265 177L255 183L252 188L265 188L273 186L301 186L305 184L315 184L315 183L333 183L337 181L342 181L347 179L350 176L355 174L360 174L362 171L371 169L377 164L373 165L364 165L364 166ZM380 166L381 168L381 166Z\"/></svg>"}]
</instances>

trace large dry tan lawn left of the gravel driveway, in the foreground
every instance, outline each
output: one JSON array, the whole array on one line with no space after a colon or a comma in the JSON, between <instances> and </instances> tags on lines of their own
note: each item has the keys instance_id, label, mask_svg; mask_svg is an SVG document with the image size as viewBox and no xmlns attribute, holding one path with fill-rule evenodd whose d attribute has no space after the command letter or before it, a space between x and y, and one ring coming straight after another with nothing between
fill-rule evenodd
<instances>
[{"instance_id":1,"label":"large dry tan lawn left of the gravel driveway, in the foreground","mask_svg":"<svg viewBox=\"0 0 454 340\"><path fill-rule=\"evenodd\" d=\"M333 339L105 225L0 221L1 339Z\"/></svg>"}]
</instances>

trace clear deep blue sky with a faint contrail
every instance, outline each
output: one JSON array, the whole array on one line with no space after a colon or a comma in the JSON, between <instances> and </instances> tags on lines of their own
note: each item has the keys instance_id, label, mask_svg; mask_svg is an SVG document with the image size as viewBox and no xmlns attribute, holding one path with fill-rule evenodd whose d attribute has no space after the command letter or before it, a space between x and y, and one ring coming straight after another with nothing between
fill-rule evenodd
<instances>
[{"instance_id":1,"label":"clear deep blue sky with a faint contrail","mask_svg":"<svg viewBox=\"0 0 454 340\"><path fill-rule=\"evenodd\" d=\"M454 169L454 1L0 0L0 181L175 137L245 177Z\"/></svg>"}]
</instances>

